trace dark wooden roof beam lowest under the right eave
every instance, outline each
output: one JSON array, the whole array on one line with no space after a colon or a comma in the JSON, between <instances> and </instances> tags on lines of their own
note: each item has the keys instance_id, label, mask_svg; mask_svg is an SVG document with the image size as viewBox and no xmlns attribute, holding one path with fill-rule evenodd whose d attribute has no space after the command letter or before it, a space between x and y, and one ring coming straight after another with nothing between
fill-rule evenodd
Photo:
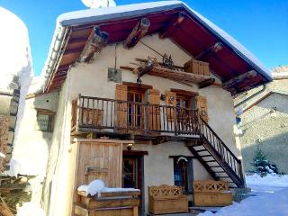
<instances>
[{"instance_id":1,"label":"dark wooden roof beam lowest under the right eave","mask_svg":"<svg viewBox=\"0 0 288 216\"><path fill-rule=\"evenodd\" d=\"M257 72L255 70L250 70L245 74L236 76L230 79L229 81L223 83L223 87L229 90L229 89L238 89L239 87L241 87L243 83L245 83L246 85L249 85L249 83L253 85L254 78L256 76Z\"/></svg>"}]
</instances>

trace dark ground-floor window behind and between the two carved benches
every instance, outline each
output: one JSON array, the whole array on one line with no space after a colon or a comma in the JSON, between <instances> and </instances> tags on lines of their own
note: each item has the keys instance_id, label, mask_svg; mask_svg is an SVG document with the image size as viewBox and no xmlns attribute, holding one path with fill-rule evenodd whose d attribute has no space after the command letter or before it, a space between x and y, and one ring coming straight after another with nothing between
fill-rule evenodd
<instances>
[{"instance_id":1,"label":"dark ground-floor window behind and between the two carved benches","mask_svg":"<svg viewBox=\"0 0 288 216\"><path fill-rule=\"evenodd\" d=\"M192 192L193 166L189 157L174 158L174 184L182 188L183 193Z\"/></svg>"}]
</instances>

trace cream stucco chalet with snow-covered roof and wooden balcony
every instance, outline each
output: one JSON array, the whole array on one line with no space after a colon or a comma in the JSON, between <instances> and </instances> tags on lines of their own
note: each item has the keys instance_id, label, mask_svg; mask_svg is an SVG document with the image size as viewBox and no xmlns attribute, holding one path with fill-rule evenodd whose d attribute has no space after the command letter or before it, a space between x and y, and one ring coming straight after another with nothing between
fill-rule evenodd
<instances>
[{"instance_id":1,"label":"cream stucco chalet with snow-covered roof and wooden balcony","mask_svg":"<svg viewBox=\"0 0 288 216\"><path fill-rule=\"evenodd\" d=\"M56 112L37 112L52 133L42 193L49 215L98 215L77 191L94 179L138 188L141 214L153 204L150 186L177 185L192 204L196 180L246 186L232 96L271 77L186 4L60 15L44 76L44 93L27 102L58 100Z\"/></svg>"}]
</instances>

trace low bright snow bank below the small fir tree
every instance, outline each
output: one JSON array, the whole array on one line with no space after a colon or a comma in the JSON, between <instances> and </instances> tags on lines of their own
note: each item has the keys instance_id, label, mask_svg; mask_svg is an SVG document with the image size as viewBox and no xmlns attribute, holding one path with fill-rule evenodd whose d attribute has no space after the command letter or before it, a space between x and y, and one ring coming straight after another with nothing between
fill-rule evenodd
<instances>
[{"instance_id":1,"label":"low bright snow bank below the small fir tree","mask_svg":"<svg viewBox=\"0 0 288 216\"><path fill-rule=\"evenodd\" d=\"M268 174L266 176L261 177L260 175L246 175L246 183L247 187L258 186L272 186L272 187L288 187L288 175L276 175L276 174Z\"/></svg>"}]
</instances>

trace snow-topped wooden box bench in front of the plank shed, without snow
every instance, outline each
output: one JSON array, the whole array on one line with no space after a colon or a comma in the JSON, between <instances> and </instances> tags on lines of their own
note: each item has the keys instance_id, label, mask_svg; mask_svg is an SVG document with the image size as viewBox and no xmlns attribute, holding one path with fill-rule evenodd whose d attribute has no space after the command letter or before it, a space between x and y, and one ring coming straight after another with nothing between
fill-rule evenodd
<instances>
[{"instance_id":1,"label":"snow-topped wooden box bench in front of the plank shed, without snow","mask_svg":"<svg viewBox=\"0 0 288 216\"><path fill-rule=\"evenodd\" d=\"M105 192L101 197L87 196L77 192L79 202L75 203L76 216L139 215L139 191Z\"/></svg>"}]
</instances>

